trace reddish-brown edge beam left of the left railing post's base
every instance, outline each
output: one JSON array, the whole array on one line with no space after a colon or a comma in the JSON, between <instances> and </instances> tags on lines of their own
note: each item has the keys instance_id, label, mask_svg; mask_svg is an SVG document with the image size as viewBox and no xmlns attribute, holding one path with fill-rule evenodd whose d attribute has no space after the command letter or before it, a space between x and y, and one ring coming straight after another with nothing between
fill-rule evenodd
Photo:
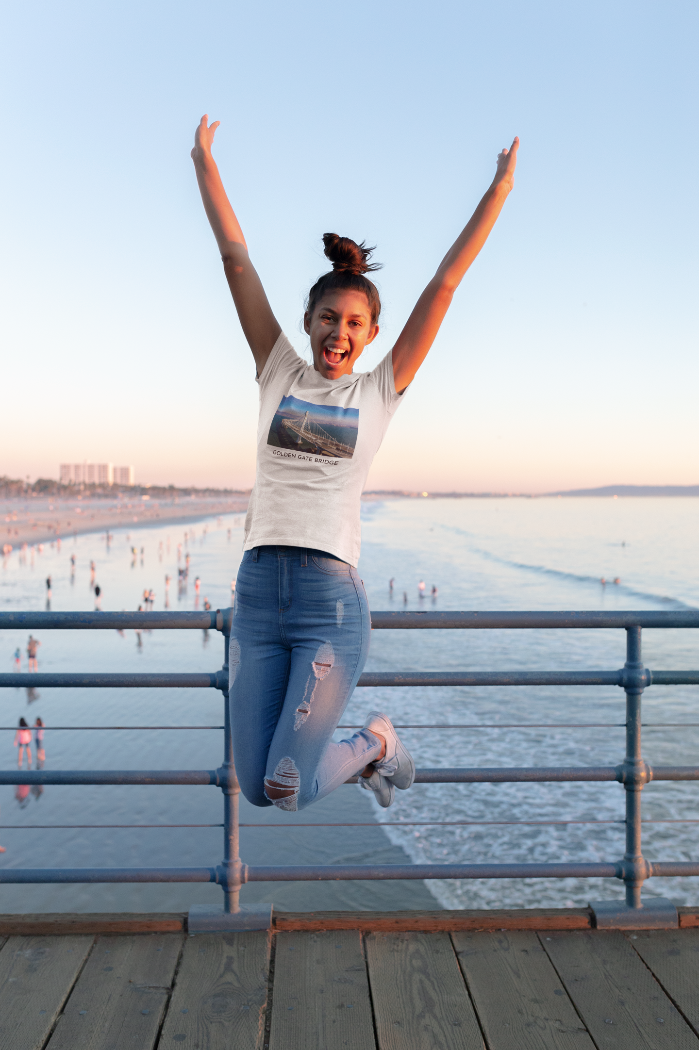
<instances>
[{"instance_id":1,"label":"reddish-brown edge beam left of the left railing post's base","mask_svg":"<svg viewBox=\"0 0 699 1050\"><path fill-rule=\"evenodd\" d=\"M64 933L177 933L184 931L186 920L186 911L0 915L0 934L58 937Z\"/></svg>"}]
</instances>

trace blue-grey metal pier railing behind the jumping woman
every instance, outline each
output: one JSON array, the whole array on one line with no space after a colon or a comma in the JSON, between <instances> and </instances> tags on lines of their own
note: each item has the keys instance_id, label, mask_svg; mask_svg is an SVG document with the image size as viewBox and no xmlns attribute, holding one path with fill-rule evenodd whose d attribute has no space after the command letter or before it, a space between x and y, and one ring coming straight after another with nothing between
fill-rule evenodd
<instances>
[{"instance_id":1,"label":"blue-grey metal pier railing behind the jumping woman","mask_svg":"<svg viewBox=\"0 0 699 1050\"><path fill-rule=\"evenodd\" d=\"M699 628L698 611L678 612L375 612L373 630L531 630L623 629L626 658L610 671L398 671L366 672L361 687L377 686L618 686L625 692L626 753L618 765L533 768L418 769L415 783L503 783L542 781L616 781L625 791L626 848L608 863L517 864L326 864L247 865L240 857L240 786L233 765L228 710L228 642L231 609L215 612L4 612L0 629L18 630L155 630L215 629L224 638L224 665L211 673L68 673L0 674L0 687L70 688L212 688L223 693L223 763L215 770L149 771L0 771L2 784L211 784L224 797L224 856L215 867L4 868L0 883L48 882L213 882L222 886L224 912L240 910L245 882L317 879L520 879L616 878L625 884L626 907L639 909L643 882L653 876L699 875L699 861L647 861L641 850L641 791L651 780L699 780L699 765L651 768L641 755L641 697L653 685L699 685L699 671L650 671L641 660L645 628ZM77 727L66 727L77 728ZM97 728L97 727L96 727ZM102 728L102 727L100 727ZM129 727L114 727L127 729ZM205 727L201 727L205 728ZM209 727L206 727L209 728ZM354 727L341 727L354 728ZM406 727L407 728L407 727ZM413 728L413 727L411 727ZM437 728L437 727L414 727ZM451 727L445 727L451 728ZM498 726L498 728L503 728ZM523 727L522 727L523 728ZM353 778L356 781L356 777ZM351 781L348 781L351 782ZM405 821L397 822L407 823ZM419 821L419 824L433 823ZM487 823L469 821L444 824ZM498 823L498 822L494 822ZM536 821L533 823L574 823ZM602 823L602 821L600 821ZM604 822L605 823L605 822ZM102 826L102 825L99 825ZM145 825L144 825L145 826ZM168 826L168 825L158 825ZM180 825L169 825L180 826ZM247 825L243 825L247 826ZM249 825L255 826L255 825ZM276 826L276 825L274 825ZM313 824L312 826L322 826ZM363 826L363 825L342 825Z\"/></svg>"}]
</instances>

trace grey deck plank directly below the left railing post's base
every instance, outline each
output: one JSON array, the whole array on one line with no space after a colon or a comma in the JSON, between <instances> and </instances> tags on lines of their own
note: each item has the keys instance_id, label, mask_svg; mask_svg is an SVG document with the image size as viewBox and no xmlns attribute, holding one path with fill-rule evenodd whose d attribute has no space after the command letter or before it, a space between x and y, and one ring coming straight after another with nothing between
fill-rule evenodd
<instances>
[{"instance_id":1,"label":"grey deck plank directly below the left railing post's base","mask_svg":"<svg viewBox=\"0 0 699 1050\"><path fill-rule=\"evenodd\" d=\"M160 1046L261 1048L270 941L267 930L187 938Z\"/></svg>"}]
</instances>

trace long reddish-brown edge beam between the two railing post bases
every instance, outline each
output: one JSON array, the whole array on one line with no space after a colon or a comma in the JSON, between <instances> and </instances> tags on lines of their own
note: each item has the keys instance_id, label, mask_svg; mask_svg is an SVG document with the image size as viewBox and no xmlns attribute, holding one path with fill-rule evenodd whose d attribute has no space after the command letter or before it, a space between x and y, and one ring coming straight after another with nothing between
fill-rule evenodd
<instances>
[{"instance_id":1,"label":"long reddish-brown edge beam between the two railing post bases","mask_svg":"<svg viewBox=\"0 0 699 1050\"><path fill-rule=\"evenodd\" d=\"M591 929L590 908L491 908L458 911L276 911L275 930L361 929L400 933L476 929Z\"/></svg>"}]
</instances>

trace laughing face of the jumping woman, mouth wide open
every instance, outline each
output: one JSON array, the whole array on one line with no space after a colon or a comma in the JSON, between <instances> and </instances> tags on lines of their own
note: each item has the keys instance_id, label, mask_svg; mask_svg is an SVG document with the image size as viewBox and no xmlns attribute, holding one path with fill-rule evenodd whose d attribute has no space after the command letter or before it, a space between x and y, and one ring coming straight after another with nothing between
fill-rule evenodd
<instances>
[{"instance_id":1,"label":"laughing face of the jumping woman, mouth wide open","mask_svg":"<svg viewBox=\"0 0 699 1050\"><path fill-rule=\"evenodd\" d=\"M313 368L325 379L349 376L364 348L378 334L364 292L347 289L326 293L312 314L304 315L304 329L311 340Z\"/></svg>"}]
</instances>

